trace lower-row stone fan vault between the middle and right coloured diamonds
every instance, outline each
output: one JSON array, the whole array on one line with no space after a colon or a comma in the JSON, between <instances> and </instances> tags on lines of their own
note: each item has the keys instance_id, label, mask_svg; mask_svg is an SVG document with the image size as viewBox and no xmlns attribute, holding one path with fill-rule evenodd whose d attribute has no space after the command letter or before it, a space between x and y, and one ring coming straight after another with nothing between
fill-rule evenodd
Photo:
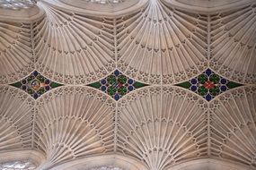
<instances>
[{"instance_id":1,"label":"lower-row stone fan vault between the middle and right coloured diamonds","mask_svg":"<svg viewBox=\"0 0 256 170\"><path fill-rule=\"evenodd\" d=\"M151 170L207 156L205 101L173 87L151 87L119 102L118 151Z\"/></svg>"}]
</instances>

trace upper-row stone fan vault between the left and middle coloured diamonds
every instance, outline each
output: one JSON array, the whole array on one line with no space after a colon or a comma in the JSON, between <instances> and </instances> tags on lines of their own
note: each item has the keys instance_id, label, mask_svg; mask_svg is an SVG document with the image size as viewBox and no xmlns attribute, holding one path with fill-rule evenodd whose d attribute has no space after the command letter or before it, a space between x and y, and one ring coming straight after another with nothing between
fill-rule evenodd
<instances>
[{"instance_id":1,"label":"upper-row stone fan vault between the left and middle coloured diamonds","mask_svg":"<svg viewBox=\"0 0 256 170\"><path fill-rule=\"evenodd\" d=\"M37 70L66 84L96 81L114 70L113 20L39 4L46 17L33 24Z\"/></svg>"}]
</instances>

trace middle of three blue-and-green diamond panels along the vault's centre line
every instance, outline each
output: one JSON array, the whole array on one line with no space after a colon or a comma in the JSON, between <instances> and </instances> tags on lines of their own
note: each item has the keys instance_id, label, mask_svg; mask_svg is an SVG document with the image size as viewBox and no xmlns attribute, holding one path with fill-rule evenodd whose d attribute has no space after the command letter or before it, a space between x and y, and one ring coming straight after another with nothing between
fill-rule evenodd
<instances>
[{"instance_id":1,"label":"middle of three blue-and-green diamond panels along the vault's centre line","mask_svg":"<svg viewBox=\"0 0 256 170\"><path fill-rule=\"evenodd\" d=\"M95 89L101 89L103 92L109 94L110 97L115 98L115 100L119 100L119 98L122 98L124 95L128 94L128 92L147 85L134 81L116 70L108 77L102 79L101 81L89 84L88 86Z\"/></svg>"}]
</instances>

